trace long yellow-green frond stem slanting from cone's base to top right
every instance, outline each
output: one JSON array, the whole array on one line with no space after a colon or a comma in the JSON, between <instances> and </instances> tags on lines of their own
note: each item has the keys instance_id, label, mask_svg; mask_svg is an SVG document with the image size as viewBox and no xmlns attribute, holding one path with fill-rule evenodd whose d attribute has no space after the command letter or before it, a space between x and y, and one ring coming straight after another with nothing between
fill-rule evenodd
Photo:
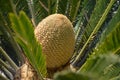
<instances>
[{"instance_id":1,"label":"long yellow-green frond stem slanting from cone's base to top right","mask_svg":"<svg viewBox=\"0 0 120 80\"><path fill-rule=\"evenodd\" d=\"M101 1L101 0L99 0L98 1L98 3L96 3L96 7L95 7L95 9L94 9L94 11L96 12L96 8L102 8L102 7L100 7L101 6L101 2L103 2L103 1ZM84 35L84 37L87 39L86 40L86 42L85 42L85 44L83 45L83 47L82 47L82 49L80 50L80 52L79 52L79 54L77 55L77 57L76 57L76 59L74 60L74 62L72 63L72 65L73 66L76 66L76 64L78 64L78 62L80 61L80 60L82 60L81 59L81 57L83 57L84 56L84 51L86 50L86 48L88 47L88 45L89 45L89 43L91 42L91 40L92 40L92 38L93 38L93 36L94 36L94 34L96 34L97 32L98 32L98 30L99 30L99 28L101 27L101 25L103 24L103 22L105 21L105 19L106 19L106 16L107 16L107 14L109 13L109 11L110 11L110 9L111 9L111 7L112 7L112 5L113 5L113 3L114 3L115 1L114 0L111 0L110 1L110 3L107 5L107 3L106 3L106 8L103 10L103 13L101 14L101 16L99 17L99 20L96 20L96 19L92 19L92 20L95 20L95 21L97 21L97 23L96 23L96 25L94 25L94 28L92 29L92 32L90 33L90 35L89 35L89 37L87 38L87 37L85 37L86 35ZM100 5L100 6L99 6ZM102 5L104 5L104 3L102 4ZM101 9L102 10L102 9ZM93 12L94 12L93 11ZM102 12L102 11L101 11ZM96 12L97 13L97 12ZM94 15L94 14L93 14ZM94 15L94 17L96 17L95 15ZM94 23L95 23L95 21L93 21ZM91 22L92 23L92 22ZM90 29L89 29L90 30ZM89 32L89 31L88 31ZM82 38L82 39L84 39L84 38ZM86 57L86 55L85 55L85 57Z\"/></svg>"}]
</instances>

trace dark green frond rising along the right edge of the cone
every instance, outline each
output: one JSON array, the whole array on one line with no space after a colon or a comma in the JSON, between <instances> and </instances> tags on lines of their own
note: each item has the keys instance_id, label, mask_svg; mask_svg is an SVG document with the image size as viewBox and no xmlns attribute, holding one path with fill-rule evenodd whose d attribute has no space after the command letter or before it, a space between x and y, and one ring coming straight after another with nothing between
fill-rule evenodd
<instances>
[{"instance_id":1,"label":"dark green frond rising along the right edge of the cone","mask_svg":"<svg viewBox=\"0 0 120 80\"><path fill-rule=\"evenodd\" d=\"M91 1L91 0L84 0L83 2L80 3L80 8L78 11L76 21L73 23L73 25L75 25L74 31L75 31L75 39L76 39L73 59L79 53L80 49L84 44L84 41L81 40L84 35L85 26L88 23L89 17L94 9L95 3L96 1Z\"/></svg>"}]
</instances>

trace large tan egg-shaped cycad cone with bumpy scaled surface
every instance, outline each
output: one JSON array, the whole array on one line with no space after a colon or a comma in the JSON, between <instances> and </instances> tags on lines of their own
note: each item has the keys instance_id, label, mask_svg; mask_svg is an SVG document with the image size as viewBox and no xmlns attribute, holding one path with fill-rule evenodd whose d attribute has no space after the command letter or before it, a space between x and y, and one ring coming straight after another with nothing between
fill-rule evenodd
<instances>
[{"instance_id":1,"label":"large tan egg-shaped cycad cone with bumpy scaled surface","mask_svg":"<svg viewBox=\"0 0 120 80\"><path fill-rule=\"evenodd\" d=\"M72 57L75 35L73 26L62 14L53 14L43 19L36 27L35 37L42 45L48 69L65 65Z\"/></svg>"}]
</instances>

